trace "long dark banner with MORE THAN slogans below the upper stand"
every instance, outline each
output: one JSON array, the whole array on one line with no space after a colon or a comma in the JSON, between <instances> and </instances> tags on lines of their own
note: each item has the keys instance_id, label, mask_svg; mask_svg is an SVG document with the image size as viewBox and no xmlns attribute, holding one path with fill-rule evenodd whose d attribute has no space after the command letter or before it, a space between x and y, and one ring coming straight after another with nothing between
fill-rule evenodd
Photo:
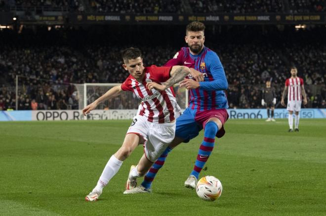
<instances>
[{"instance_id":1,"label":"long dark banner with MORE THAN slogans below the upper stand","mask_svg":"<svg viewBox=\"0 0 326 216\"><path fill-rule=\"evenodd\" d=\"M188 24L200 21L206 24L310 24L326 23L324 13L262 13L262 14L69 14L69 22L83 24Z\"/></svg>"}]
</instances>

